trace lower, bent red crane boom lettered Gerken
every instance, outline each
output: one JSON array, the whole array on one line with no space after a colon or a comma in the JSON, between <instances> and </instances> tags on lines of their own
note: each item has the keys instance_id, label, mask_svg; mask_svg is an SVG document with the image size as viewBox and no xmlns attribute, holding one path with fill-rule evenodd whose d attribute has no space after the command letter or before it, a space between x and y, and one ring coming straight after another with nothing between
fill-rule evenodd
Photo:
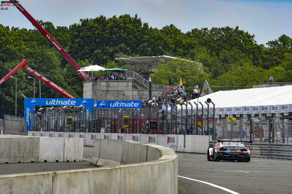
<instances>
[{"instance_id":1,"label":"lower, bent red crane boom lettered Gerken","mask_svg":"<svg viewBox=\"0 0 292 194\"><path fill-rule=\"evenodd\" d=\"M28 67L26 63L27 63L27 59L22 59L22 62L19 63L19 65L16 66L16 68L14 68L11 72L9 72L7 75L5 75L5 77L3 77L0 80L0 85L5 80L7 80L11 75L13 75L15 72L17 72L17 70L19 70L20 68L23 68L23 69L27 70L30 74L34 75L36 78L41 80L44 84L49 86L51 89L55 90L56 92L58 92L59 94L64 96L65 98L75 98L74 96L69 94L67 91L65 91L61 87L59 87L57 84L53 83L51 80L48 80L47 78L45 78L44 76L42 76L38 72L36 72L35 70Z\"/></svg>"}]
</instances>

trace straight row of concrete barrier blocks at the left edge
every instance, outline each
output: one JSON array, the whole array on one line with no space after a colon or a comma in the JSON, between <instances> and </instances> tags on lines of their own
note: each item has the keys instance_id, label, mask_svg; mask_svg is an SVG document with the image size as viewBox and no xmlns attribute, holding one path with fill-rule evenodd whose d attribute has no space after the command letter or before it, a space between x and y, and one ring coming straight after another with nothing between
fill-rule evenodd
<instances>
[{"instance_id":1,"label":"straight row of concrete barrier blocks at the left edge","mask_svg":"<svg viewBox=\"0 0 292 194\"><path fill-rule=\"evenodd\" d=\"M0 135L0 163L81 162L83 139Z\"/></svg>"}]
</instances>

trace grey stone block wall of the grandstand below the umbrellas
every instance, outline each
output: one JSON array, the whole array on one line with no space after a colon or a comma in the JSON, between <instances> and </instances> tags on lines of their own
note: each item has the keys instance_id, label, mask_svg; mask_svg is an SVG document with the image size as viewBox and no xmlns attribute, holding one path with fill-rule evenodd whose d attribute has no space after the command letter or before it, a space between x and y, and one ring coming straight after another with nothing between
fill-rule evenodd
<instances>
[{"instance_id":1,"label":"grey stone block wall of the grandstand below the umbrellas","mask_svg":"<svg viewBox=\"0 0 292 194\"><path fill-rule=\"evenodd\" d=\"M83 98L94 100L140 100L149 98L148 89L132 89L132 80L98 80L83 82ZM164 90L152 90L158 96Z\"/></svg>"}]
</instances>

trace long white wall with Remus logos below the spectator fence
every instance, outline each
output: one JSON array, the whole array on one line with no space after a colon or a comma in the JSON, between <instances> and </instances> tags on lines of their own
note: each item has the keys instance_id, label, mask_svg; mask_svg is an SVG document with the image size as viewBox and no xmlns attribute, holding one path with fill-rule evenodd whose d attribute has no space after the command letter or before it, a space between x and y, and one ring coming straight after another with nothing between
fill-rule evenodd
<instances>
[{"instance_id":1,"label":"long white wall with Remus logos below the spectator fence","mask_svg":"<svg viewBox=\"0 0 292 194\"><path fill-rule=\"evenodd\" d=\"M164 135L164 134L114 134L114 133L77 133L77 132L42 132L28 131L29 136L45 134L49 137L84 138L85 146L93 146L95 139L133 140L171 148L177 152L206 153L209 147L208 135Z\"/></svg>"}]
</instances>

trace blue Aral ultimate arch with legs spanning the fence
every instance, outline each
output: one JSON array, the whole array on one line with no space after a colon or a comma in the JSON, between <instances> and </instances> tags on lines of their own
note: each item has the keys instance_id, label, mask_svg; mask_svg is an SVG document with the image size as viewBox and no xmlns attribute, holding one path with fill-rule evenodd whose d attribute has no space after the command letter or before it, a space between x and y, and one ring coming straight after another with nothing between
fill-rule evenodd
<instances>
[{"instance_id":1,"label":"blue Aral ultimate arch with legs spanning the fence","mask_svg":"<svg viewBox=\"0 0 292 194\"><path fill-rule=\"evenodd\" d=\"M84 110L89 112L88 108L94 110L93 98L25 98L24 99L24 120L27 122L27 130L31 128L31 117L34 114L35 106L84 106ZM88 114L89 115L89 114ZM88 118L87 118L88 119Z\"/></svg>"}]
</instances>

